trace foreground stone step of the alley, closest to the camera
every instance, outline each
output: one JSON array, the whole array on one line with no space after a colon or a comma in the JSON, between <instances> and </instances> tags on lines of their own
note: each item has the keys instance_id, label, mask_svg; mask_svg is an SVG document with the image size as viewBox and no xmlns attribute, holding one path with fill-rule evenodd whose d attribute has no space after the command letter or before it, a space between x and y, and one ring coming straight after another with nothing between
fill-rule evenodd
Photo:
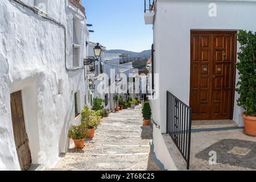
<instances>
[{"instance_id":1,"label":"foreground stone step of the alley, closest to the camera","mask_svg":"<svg viewBox=\"0 0 256 182\"><path fill-rule=\"evenodd\" d=\"M87 156L66 154L65 163L59 163L51 171L85 170L85 171L147 171L160 170L150 155L121 155L121 156ZM62 161L63 161L62 160ZM69 162L70 161L70 162Z\"/></svg>"}]
</instances>

